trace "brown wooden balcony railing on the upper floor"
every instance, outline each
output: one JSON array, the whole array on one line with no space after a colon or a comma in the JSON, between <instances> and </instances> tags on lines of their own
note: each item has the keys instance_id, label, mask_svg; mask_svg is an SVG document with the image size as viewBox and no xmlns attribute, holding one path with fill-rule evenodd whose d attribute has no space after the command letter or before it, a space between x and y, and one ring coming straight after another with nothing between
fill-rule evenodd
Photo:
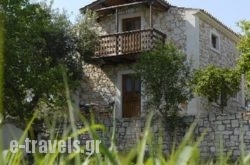
<instances>
[{"instance_id":1,"label":"brown wooden balcony railing on the upper floor","mask_svg":"<svg viewBox=\"0 0 250 165\"><path fill-rule=\"evenodd\" d=\"M153 48L157 41L164 42L166 35L156 29L128 31L100 37L96 57L134 54Z\"/></svg>"}]
</instances>

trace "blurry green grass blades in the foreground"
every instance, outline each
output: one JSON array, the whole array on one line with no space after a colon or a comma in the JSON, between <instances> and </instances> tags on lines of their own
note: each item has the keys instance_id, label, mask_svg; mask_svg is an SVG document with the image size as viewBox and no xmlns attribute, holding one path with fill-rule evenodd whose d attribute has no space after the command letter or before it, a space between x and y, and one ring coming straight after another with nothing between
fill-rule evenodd
<instances>
[{"instance_id":1,"label":"blurry green grass blades in the foreground","mask_svg":"<svg viewBox=\"0 0 250 165\"><path fill-rule=\"evenodd\" d=\"M69 106L71 106L71 103ZM70 109L70 108L69 108ZM73 109L71 109L73 110ZM72 112L69 112L72 113ZM242 156L239 158L238 161L230 162L229 157L223 155L223 153L219 154L216 159L211 160L201 160L199 155L199 144L203 139L203 135L196 140L195 142L190 142L192 138L192 132L195 129L196 124L193 123L187 134L182 139L182 142L178 145L177 148L173 148L170 155L165 155L161 151L161 147L154 148L156 146L150 146L148 148L148 153L146 153L146 146L149 145L151 140L151 129L150 124L153 117L153 113L149 114L148 119L146 121L146 126L144 128L144 133L142 140L138 143L138 145L132 148L127 153L122 153L116 150L116 145L114 143L114 130L113 135L111 136L111 146L108 148L103 144L100 144L100 153L95 153L93 155L86 155L86 154L79 154L79 153L68 153L62 154L59 151L55 153L45 153L41 154L36 152L33 154L34 157L34 164L37 165L67 165L67 164L75 164L75 165L96 165L96 164L104 164L104 165L233 165L233 164L240 164L240 165L248 165L250 164L250 155ZM27 125L26 130L24 131L25 134L29 130L34 118L30 121ZM70 117L70 121L74 121L74 116ZM105 130L105 127L99 124L94 123L93 118L86 119L84 116L81 116L81 122L84 123L85 127L81 129L77 129L74 123L68 124L68 126L64 127L64 131L62 132L62 136L58 136L56 134L55 127L51 127L50 129L50 138L52 140L55 139L63 139L67 140L68 137L72 139L78 139L78 135L89 133L91 137L95 140L98 140L99 137L97 136L97 130ZM113 124L115 124L115 120L113 120ZM74 128L72 128L74 126ZM113 127L115 129L115 127ZM74 131L73 131L74 130ZM25 136L21 137L20 143L24 141ZM86 146L82 146L82 149L85 149ZM223 148L223 146L220 146ZM15 154L10 153L5 159L2 159L1 164L28 164L28 159L24 159L23 152L19 151ZM8 162L8 163L7 163Z\"/></svg>"}]
</instances>

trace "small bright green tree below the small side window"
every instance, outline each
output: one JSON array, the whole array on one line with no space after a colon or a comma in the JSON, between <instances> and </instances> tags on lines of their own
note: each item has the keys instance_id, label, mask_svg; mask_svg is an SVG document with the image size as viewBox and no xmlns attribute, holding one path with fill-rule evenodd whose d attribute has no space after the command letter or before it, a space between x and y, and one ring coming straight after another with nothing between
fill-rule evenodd
<instances>
[{"instance_id":1,"label":"small bright green tree below the small side window","mask_svg":"<svg viewBox=\"0 0 250 165\"><path fill-rule=\"evenodd\" d=\"M238 70L210 65L196 70L192 83L196 94L215 102L223 112L229 98L239 91L240 81Z\"/></svg>"}]
</instances>

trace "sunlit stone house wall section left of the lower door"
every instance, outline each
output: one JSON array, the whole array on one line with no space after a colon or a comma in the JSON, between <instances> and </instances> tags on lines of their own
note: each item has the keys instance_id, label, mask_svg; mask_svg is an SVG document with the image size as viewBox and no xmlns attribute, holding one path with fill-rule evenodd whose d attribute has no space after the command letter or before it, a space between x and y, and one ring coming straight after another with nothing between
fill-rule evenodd
<instances>
[{"instance_id":1,"label":"sunlit stone house wall section left of the lower door","mask_svg":"<svg viewBox=\"0 0 250 165\"><path fill-rule=\"evenodd\" d=\"M80 104L94 103L99 108L104 108L114 102L117 74L113 68L114 66L101 68L92 64L84 65L83 81L78 90Z\"/></svg>"}]
</instances>

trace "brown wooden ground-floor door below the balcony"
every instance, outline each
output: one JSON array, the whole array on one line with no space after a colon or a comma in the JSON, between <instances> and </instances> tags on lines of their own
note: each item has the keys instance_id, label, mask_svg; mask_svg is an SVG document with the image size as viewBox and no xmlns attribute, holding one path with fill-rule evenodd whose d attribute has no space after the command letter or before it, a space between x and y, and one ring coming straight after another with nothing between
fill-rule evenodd
<instances>
[{"instance_id":1,"label":"brown wooden ground-floor door below the balcony","mask_svg":"<svg viewBox=\"0 0 250 165\"><path fill-rule=\"evenodd\" d=\"M133 74L122 76L122 117L141 114L141 83Z\"/></svg>"}]
</instances>

